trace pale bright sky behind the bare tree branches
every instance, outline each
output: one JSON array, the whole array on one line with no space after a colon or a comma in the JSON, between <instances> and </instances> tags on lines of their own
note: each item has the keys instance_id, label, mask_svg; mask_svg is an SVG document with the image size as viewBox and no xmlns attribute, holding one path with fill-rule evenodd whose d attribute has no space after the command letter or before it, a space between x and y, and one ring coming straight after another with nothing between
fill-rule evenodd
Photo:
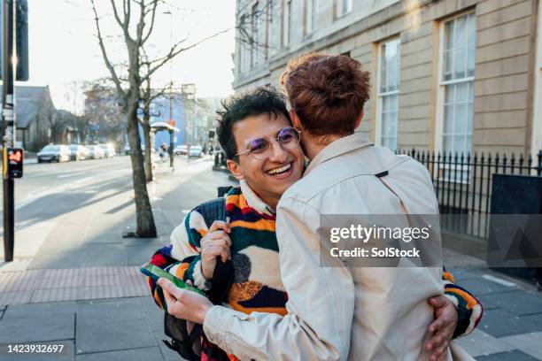
<instances>
[{"instance_id":1,"label":"pale bright sky behind the bare tree branches","mask_svg":"<svg viewBox=\"0 0 542 361\"><path fill-rule=\"evenodd\" d=\"M169 5L159 7L149 41L153 57L164 54L174 42L186 39L183 45L190 45L235 26L235 0L167 2ZM112 61L128 59L110 0L96 3ZM57 109L81 111L82 95L75 90L78 84L109 76L97 43L90 0L28 0L28 27L30 79L21 85L49 85ZM195 83L198 97L228 96L233 92L234 48L235 33L229 30L180 54L171 66L156 73L152 85L159 87L170 80L176 85ZM78 104L66 100L66 93L76 95Z\"/></svg>"}]
</instances>

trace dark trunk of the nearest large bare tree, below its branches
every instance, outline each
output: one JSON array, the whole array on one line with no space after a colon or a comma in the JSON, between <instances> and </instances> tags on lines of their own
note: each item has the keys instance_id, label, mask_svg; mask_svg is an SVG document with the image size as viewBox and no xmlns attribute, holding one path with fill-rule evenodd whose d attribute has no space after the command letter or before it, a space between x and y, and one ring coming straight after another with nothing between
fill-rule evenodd
<instances>
[{"instance_id":1,"label":"dark trunk of the nearest large bare tree, below its branches","mask_svg":"<svg viewBox=\"0 0 542 361\"><path fill-rule=\"evenodd\" d=\"M156 237L156 225L152 215L151 202L147 193L145 171L143 166L143 154L141 154L141 139L137 119L139 103L139 88L130 89L128 96L128 142L130 143L130 160L132 161L132 179L134 181L134 194L136 198L136 234L138 237ZM147 149L148 147L145 147Z\"/></svg>"}]
</instances>

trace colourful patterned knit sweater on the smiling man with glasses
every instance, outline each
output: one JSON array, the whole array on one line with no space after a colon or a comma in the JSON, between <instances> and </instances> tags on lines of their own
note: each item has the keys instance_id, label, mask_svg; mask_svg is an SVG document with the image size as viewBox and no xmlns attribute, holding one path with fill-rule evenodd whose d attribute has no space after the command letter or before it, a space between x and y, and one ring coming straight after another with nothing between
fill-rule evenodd
<instances>
[{"instance_id":1,"label":"colourful patterned knit sweater on the smiling man with glasses","mask_svg":"<svg viewBox=\"0 0 542 361\"><path fill-rule=\"evenodd\" d=\"M209 283L201 273L199 242L207 227L199 207L190 211L171 235L172 244L158 250L153 265L166 269L194 286L208 290ZM226 196L232 241L231 255L235 280L229 290L228 305L236 311L272 312L285 315L288 296L279 270L278 243L275 235L275 213L244 181ZM161 308L164 303L156 284L148 278L151 294ZM457 307L459 322L454 337L466 335L482 318L481 303L467 290L454 283L453 275L443 272L445 296Z\"/></svg>"}]
</instances>

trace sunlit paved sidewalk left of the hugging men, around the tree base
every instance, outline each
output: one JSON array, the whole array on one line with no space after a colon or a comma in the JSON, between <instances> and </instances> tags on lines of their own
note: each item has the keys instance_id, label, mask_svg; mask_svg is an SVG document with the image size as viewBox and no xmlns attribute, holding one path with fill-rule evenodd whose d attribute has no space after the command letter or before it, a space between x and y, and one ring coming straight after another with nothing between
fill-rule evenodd
<instances>
[{"instance_id":1,"label":"sunlit paved sidewalk left of the hugging men, around the tree base","mask_svg":"<svg viewBox=\"0 0 542 361\"><path fill-rule=\"evenodd\" d=\"M169 243L185 211L231 184L211 173L211 162L177 162L171 173L159 165L149 185L157 238L121 237L135 229L133 201L107 198L88 229L81 218L42 242L23 240L28 250L10 264L0 263L0 360L179 360L162 339L163 312L154 304L139 267ZM105 197L104 197L105 198ZM36 236L26 233L28 238ZM43 240L42 240L43 241ZM40 247L41 246L41 247ZM17 257L17 254L16 254ZM64 345L57 354L8 353L8 345Z\"/></svg>"}]
</instances>

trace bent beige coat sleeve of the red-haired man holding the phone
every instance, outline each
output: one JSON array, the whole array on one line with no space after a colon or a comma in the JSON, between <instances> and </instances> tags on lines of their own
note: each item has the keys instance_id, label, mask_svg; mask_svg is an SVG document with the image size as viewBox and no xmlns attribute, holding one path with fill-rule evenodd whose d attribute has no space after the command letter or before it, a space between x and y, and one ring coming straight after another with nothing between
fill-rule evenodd
<instances>
[{"instance_id":1,"label":"bent beige coat sleeve of the red-haired man holding the phone","mask_svg":"<svg viewBox=\"0 0 542 361\"><path fill-rule=\"evenodd\" d=\"M204 332L210 342L241 359L344 360L350 348L354 309L352 275L342 264L320 266L320 214L283 199L277 241L288 314L250 315L213 306ZM310 220L310 221L309 221Z\"/></svg>"}]
</instances>

